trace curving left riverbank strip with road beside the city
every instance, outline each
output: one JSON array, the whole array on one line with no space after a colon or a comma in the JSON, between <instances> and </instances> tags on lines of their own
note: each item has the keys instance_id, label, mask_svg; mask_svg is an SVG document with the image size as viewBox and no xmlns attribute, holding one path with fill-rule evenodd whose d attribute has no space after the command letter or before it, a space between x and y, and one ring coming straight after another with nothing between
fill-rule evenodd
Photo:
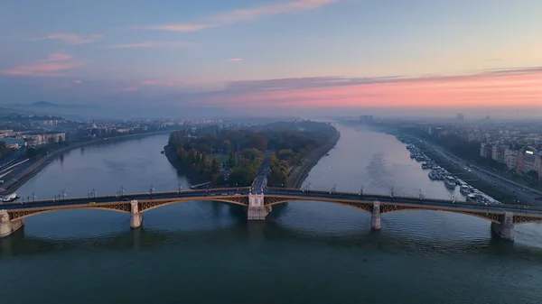
<instances>
[{"instance_id":1,"label":"curving left riverbank strip with road beside the city","mask_svg":"<svg viewBox=\"0 0 542 304\"><path fill-rule=\"evenodd\" d=\"M137 138L141 138L145 136L150 136L150 135L155 135L155 134L164 134L164 133L170 133L170 132L171 130L145 133L145 134L129 134L129 135L123 135L123 136L117 136L117 137L101 138L101 139L84 142L84 143L70 144L67 147L62 147L61 149L50 152L49 154L44 155L42 158L33 161L32 165L30 165L25 170L22 170L18 174L15 174L11 180L5 180L3 187L0 188L0 195L13 193L15 190L23 186L23 184L26 181L32 179L36 174L38 174L41 170L47 167L47 165L49 165L51 161L53 161L57 156L61 155L64 152L68 152L72 149L77 149L77 148L81 148L81 147L92 145L92 144L118 142L118 141L137 139Z\"/></svg>"}]
</instances>

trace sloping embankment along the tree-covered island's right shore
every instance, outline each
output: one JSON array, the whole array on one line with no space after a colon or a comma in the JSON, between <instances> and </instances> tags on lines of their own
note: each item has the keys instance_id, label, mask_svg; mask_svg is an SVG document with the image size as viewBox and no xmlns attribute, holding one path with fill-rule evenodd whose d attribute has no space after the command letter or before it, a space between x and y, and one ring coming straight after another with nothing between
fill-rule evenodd
<instances>
[{"instance_id":1,"label":"sloping embankment along the tree-covered island's right shore","mask_svg":"<svg viewBox=\"0 0 542 304\"><path fill-rule=\"evenodd\" d=\"M334 134L327 143L322 145L322 147L313 150L307 156L305 156L300 165L295 166L292 170L290 170L288 180L286 180L287 186L289 188L300 188L303 181L307 178L307 176L309 176L311 169L313 169L318 161L320 161L323 155L332 150L335 144L339 142L340 138L341 133L337 131L337 133Z\"/></svg>"}]
</instances>

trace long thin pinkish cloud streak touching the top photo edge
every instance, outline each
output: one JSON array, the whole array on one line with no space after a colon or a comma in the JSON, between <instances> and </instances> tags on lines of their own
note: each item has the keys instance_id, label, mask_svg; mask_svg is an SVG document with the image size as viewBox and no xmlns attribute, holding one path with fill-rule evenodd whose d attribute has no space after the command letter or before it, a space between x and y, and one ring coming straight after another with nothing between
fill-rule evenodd
<instances>
[{"instance_id":1,"label":"long thin pinkish cloud streak touching the top photo edge","mask_svg":"<svg viewBox=\"0 0 542 304\"><path fill-rule=\"evenodd\" d=\"M253 8L237 9L229 12L211 15L204 18L201 23L171 23L162 25L150 25L138 27L139 29L172 31L172 32L196 32L212 27L226 26L254 20L258 17L272 14L286 14L301 11L309 11L323 5L329 5L339 0L294 0L273 5L263 5Z\"/></svg>"}]
</instances>

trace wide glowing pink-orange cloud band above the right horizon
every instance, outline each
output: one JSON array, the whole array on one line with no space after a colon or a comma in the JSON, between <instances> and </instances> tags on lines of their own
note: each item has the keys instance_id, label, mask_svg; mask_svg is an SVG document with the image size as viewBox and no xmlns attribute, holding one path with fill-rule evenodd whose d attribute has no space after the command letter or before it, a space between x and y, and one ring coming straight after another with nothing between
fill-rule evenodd
<instances>
[{"instance_id":1,"label":"wide glowing pink-orange cloud band above the right horizon","mask_svg":"<svg viewBox=\"0 0 542 304\"><path fill-rule=\"evenodd\" d=\"M212 105L542 106L542 68L425 78L286 78L232 83Z\"/></svg>"}]
</instances>

